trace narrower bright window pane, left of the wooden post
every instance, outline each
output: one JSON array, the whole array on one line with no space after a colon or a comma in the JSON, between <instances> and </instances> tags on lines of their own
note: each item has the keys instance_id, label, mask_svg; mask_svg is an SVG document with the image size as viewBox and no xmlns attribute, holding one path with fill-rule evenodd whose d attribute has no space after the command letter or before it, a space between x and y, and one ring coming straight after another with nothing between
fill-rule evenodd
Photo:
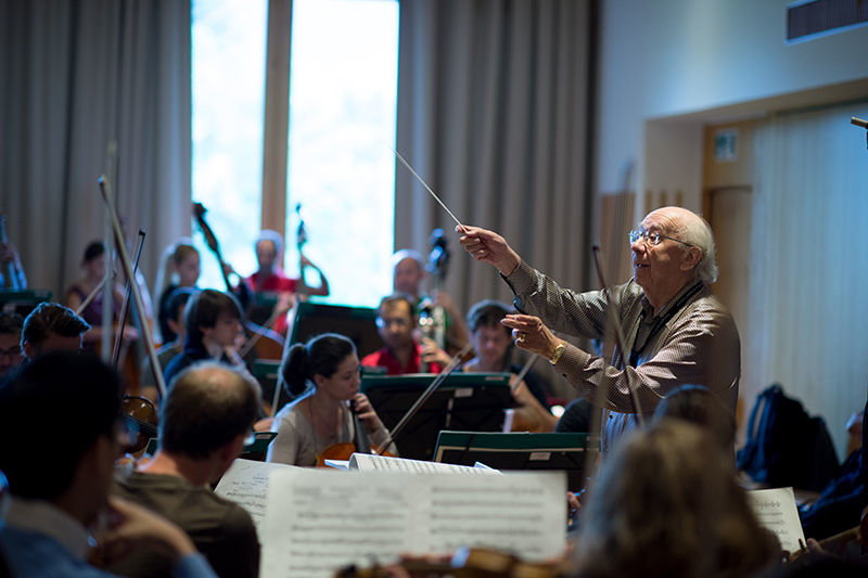
<instances>
[{"instance_id":1,"label":"narrower bright window pane, left of the wooden post","mask_svg":"<svg viewBox=\"0 0 868 578\"><path fill-rule=\"evenodd\" d=\"M250 274L263 181L266 0L193 0L193 200L224 258ZM216 260L193 230L202 286L222 288Z\"/></svg>"}]
</instances>

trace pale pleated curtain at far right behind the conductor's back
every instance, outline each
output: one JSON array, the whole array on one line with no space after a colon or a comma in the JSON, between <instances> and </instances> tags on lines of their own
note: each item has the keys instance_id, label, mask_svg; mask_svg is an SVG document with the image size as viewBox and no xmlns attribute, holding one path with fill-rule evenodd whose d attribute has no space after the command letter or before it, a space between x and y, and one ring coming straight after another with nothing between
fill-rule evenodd
<instances>
[{"instance_id":1,"label":"pale pleated curtain at far right behind the conductor's back","mask_svg":"<svg viewBox=\"0 0 868 578\"><path fill-rule=\"evenodd\" d=\"M757 131L743 332L745 388L780 382L826 419L839 450L868 393L868 150L851 116L868 116L868 103L780 114Z\"/></svg>"}]
</instances>

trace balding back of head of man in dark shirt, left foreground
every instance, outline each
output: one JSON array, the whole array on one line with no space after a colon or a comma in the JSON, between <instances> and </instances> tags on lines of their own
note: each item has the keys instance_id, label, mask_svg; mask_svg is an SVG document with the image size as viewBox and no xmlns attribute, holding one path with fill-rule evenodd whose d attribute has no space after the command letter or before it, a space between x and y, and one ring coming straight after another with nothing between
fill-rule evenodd
<instances>
[{"instance_id":1,"label":"balding back of head of man in dark shirt, left foreground","mask_svg":"<svg viewBox=\"0 0 868 578\"><path fill-rule=\"evenodd\" d=\"M163 404L163 451L192 459L213 452L251 431L259 407L259 387L228 365L206 361L173 381Z\"/></svg>"}]
</instances>

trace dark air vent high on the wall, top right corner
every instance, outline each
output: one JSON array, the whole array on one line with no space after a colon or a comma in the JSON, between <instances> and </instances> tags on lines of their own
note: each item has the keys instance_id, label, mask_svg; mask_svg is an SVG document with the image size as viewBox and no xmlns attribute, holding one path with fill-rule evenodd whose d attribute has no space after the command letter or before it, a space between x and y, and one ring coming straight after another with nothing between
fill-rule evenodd
<instances>
[{"instance_id":1,"label":"dark air vent high on the wall, top right corner","mask_svg":"<svg viewBox=\"0 0 868 578\"><path fill-rule=\"evenodd\" d=\"M868 0L807 0L787 7L787 40L797 42L868 24Z\"/></svg>"}]
</instances>

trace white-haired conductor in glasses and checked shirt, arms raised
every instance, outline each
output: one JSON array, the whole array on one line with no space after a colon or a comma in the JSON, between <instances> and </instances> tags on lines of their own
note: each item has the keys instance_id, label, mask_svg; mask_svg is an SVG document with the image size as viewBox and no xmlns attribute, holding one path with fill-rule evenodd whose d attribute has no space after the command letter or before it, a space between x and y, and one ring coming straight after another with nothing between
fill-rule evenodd
<instances>
[{"instance_id":1,"label":"white-haired conductor in glasses and checked shirt, arms raised","mask_svg":"<svg viewBox=\"0 0 868 578\"><path fill-rule=\"evenodd\" d=\"M633 279L610 287L609 298L600 291L562 288L524 262L502 236L465 229L460 239L464 249L497 268L515 294L521 313L502 321L512 329L515 344L548 359L579 395L603 403L604 452L636 425L637 413L650 415L668 391L684 384L704 385L735 413L739 335L732 316L707 286L717 279L717 266L711 227L701 217L664 207L642 219L629 234ZM609 362L549 329L602 339L609 303L616 308L625 338L625 354L615 350Z\"/></svg>"}]
</instances>

